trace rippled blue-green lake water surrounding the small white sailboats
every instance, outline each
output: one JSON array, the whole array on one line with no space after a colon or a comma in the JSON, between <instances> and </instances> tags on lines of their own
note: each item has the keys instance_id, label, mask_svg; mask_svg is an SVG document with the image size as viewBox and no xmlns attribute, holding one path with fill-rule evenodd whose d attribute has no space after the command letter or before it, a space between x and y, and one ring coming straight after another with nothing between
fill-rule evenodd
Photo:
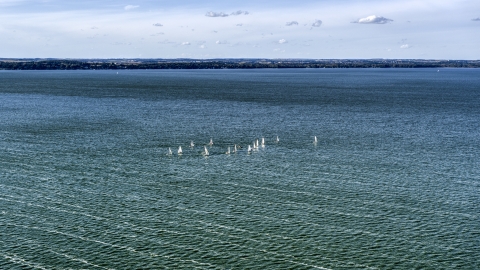
<instances>
[{"instance_id":1,"label":"rippled blue-green lake water surrounding the small white sailboats","mask_svg":"<svg viewBox=\"0 0 480 270\"><path fill-rule=\"evenodd\" d=\"M474 69L0 71L0 268L480 269L479 119Z\"/></svg>"}]
</instances>

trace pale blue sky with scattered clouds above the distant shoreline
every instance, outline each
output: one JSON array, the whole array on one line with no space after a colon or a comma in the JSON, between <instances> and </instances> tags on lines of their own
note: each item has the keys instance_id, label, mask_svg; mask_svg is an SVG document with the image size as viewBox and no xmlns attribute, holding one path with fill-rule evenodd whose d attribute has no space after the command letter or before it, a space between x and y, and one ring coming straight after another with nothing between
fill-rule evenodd
<instances>
[{"instance_id":1,"label":"pale blue sky with scattered clouds above the distant shoreline","mask_svg":"<svg viewBox=\"0 0 480 270\"><path fill-rule=\"evenodd\" d=\"M0 36L0 58L480 59L480 1L0 0Z\"/></svg>"}]
</instances>

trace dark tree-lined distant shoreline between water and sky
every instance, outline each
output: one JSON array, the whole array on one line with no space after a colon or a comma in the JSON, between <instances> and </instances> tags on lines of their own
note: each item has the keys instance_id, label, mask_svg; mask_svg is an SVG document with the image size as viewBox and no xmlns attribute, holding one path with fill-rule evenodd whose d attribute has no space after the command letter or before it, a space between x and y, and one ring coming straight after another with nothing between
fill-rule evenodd
<instances>
[{"instance_id":1,"label":"dark tree-lined distant shoreline between water and sky","mask_svg":"<svg viewBox=\"0 0 480 270\"><path fill-rule=\"evenodd\" d=\"M0 70L480 68L480 60L0 58Z\"/></svg>"}]
</instances>

